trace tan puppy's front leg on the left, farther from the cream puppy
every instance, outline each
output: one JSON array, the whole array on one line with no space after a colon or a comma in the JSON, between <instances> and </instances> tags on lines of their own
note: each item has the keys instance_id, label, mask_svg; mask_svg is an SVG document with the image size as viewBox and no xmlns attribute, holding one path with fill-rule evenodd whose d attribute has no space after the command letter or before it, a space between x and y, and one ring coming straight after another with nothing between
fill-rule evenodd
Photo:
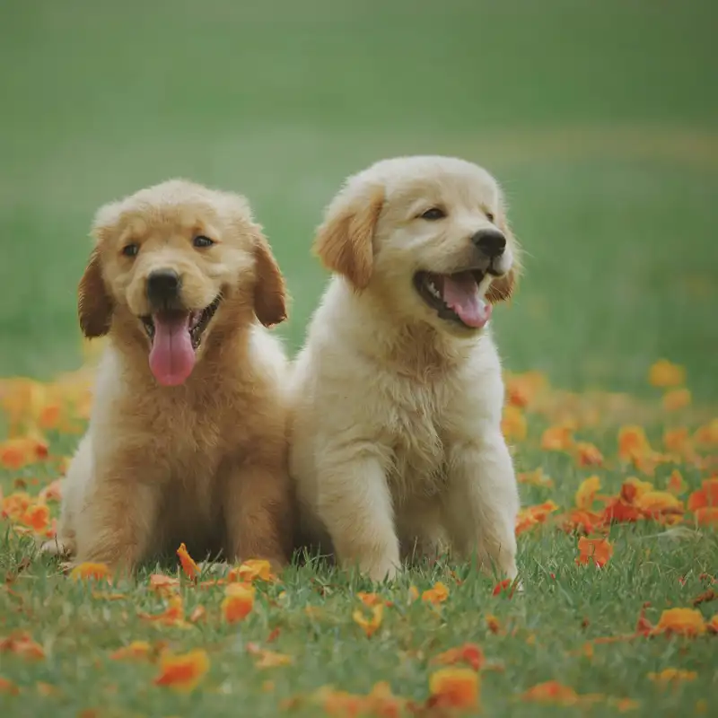
<instances>
[{"instance_id":1,"label":"tan puppy's front leg on the left, farther from the cream puppy","mask_svg":"<svg viewBox=\"0 0 718 718\"><path fill-rule=\"evenodd\" d=\"M95 465L95 477L75 517L76 562L100 562L131 572L152 547L164 482L152 457L116 452ZM140 479L137 475L141 473Z\"/></svg>"}]
</instances>

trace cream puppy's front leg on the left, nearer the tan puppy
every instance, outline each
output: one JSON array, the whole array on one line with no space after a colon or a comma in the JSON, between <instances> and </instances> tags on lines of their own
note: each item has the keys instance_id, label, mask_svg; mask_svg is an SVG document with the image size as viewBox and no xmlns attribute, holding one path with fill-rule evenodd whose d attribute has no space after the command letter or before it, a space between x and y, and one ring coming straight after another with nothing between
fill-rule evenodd
<instances>
[{"instance_id":1,"label":"cream puppy's front leg on the left, nearer the tan puppy","mask_svg":"<svg viewBox=\"0 0 718 718\"><path fill-rule=\"evenodd\" d=\"M399 544L384 469L375 457L355 454L344 463L319 467L318 513L339 562L372 581L394 578Z\"/></svg>"}]
</instances>

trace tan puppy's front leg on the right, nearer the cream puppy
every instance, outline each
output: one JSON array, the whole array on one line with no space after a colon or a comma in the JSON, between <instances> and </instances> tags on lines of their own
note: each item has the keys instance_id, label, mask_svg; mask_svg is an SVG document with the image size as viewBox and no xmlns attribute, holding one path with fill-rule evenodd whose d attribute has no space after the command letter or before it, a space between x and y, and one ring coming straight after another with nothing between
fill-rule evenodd
<instances>
[{"instance_id":1,"label":"tan puppy's front leg on the right, nearer the cream puppy","mask_svg":"<svg viewBox=\"0 0 718 718\"><path fill-rule=\"evenodd\" d=\"M231 463L223 470L223 512L230 561L287 563L293 537L289 478L283 464Z\"/></svg>"}]
</instances>

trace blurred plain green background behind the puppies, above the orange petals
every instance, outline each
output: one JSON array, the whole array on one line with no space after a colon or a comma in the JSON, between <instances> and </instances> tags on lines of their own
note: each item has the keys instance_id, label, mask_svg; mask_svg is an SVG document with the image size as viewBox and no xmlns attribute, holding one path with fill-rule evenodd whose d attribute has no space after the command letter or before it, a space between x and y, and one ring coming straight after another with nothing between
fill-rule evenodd
<instances>
[{"instance_id":1,"label":"blurred plain green background behind the puppies, above the orange petals","mask_svg":"<svg viewBox=\"0 0 718 718\"><path fill-rule=\"evenodd\" d=\"M184 176L250 197L293 293L343 178L449 153L502 181L528 250L505 365L635 390L660 356L718 397L718 4L4 0L0 374L80 362L97 206Z\"/></svg>"}]
</instances>

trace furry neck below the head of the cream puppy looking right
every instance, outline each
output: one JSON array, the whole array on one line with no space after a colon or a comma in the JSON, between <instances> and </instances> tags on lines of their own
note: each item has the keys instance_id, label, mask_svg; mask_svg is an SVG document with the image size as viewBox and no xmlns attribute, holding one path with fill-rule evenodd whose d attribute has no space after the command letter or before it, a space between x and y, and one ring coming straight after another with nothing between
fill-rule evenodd
<instances>
[{"instance_id":1,"label":"furry neck below the head of the cream puppy looking right","mask_svg":"<svg viewBox=\"0 0 718 718\"><path fill-rule=\"evenodd\" d=\"M358 353L422 381L460 367L481 340L481 336L452 337L425 321L407 319L391 311L371 289L358 293L338 278L324 303L328 311L336 312L333 323ZM346 322L347 316L353 320Z\"/></svg>"}]
</instances>

